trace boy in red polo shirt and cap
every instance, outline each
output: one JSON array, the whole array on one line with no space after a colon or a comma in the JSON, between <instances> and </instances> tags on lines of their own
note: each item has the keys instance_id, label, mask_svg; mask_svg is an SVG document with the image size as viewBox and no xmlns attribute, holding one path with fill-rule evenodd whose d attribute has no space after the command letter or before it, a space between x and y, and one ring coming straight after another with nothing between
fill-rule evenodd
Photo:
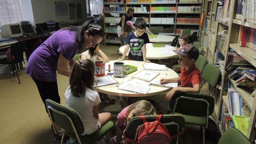
<instances>
[{"instance_id":1,"label":"boy in red polo shirt and cap","mask_svg":"<svg viewBox=\"0 0 256 144\"><path fill-rule=\"evenodd\" d=\"M173 50L179 55L179 66L181 67L180 77L173 79L160 79L161 83L181 82L180 87L175 87L166 94L166 99L170 100L175 93L179 92L200 92L201 74L195 67L195 61L198 59L199 51L193 45L184 45L180 50Z\"/></svg>"}]
</instances>

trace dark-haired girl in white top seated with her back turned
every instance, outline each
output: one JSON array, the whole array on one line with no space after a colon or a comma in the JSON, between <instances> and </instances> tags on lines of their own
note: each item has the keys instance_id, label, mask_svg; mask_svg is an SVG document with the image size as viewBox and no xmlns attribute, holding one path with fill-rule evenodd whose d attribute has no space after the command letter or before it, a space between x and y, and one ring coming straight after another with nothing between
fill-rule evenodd
<instances>
[{"instance_id":1,"label":"dark-haired girl in white top seated with her back turned","mask_svg":"<svg viewBox=\"0 0 256 144\"><path fill-rule=\"evenodd\" d=\"M95 66L91 60L77 61L70 74L70 87L65 93L67 107L77 111L89 135L111 119L111 113L99 113L99 95L93 90ZM70 139L70 141L73 141Z\"/></svg>"}]
</instances>

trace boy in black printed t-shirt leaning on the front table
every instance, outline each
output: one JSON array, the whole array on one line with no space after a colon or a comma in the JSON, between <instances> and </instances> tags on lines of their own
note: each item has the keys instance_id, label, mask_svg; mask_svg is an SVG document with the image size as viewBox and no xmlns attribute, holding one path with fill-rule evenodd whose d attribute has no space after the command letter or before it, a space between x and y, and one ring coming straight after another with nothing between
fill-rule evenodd
<instances>
[{"instance_id":1,"label":"boy in black printed t-shirt leaning on the front table","mask_svg":"<svg viewBox=\"0 0 256 144\"><path fill-rule=\"evenodd\" d=\"M149 43L149 39L146 30L146 21L143 17L137 18L135 22L135 32L130 32L125 38L125 42L127 43L124 54L122 58L118 58L118 61L125 60L125 56L129 50L131 50L128 54L128 60L134 61L144 61L145 63L150 63L149 60L146 59L146 44Z\"/></svg>"}]
</instances>

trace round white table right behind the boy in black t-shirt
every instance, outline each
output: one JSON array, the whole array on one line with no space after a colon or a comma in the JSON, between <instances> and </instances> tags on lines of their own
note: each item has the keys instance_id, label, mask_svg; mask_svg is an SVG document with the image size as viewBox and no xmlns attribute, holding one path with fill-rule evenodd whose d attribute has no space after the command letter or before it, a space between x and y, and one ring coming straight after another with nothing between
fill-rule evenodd
<instances>
[{"instance_id":1,"label":"round white table right behind the boy in black t-shirt","mask_svg":"<svg viewBox=\"0 0 256 144\"><path fill-rule=\"evenodd\" d=\"M119 48L119 51L121 52L121 54L124 53L125 47L126 45ZM175 47L170 45L166 45L165 47L153 47L152 43L147 43L146 48L147 48L147 53L146 53L147 59L166 59L166 58L172 58L173 56L177 55L175 52L173 52L173 49L175 49ZM128 56L129 51L127 52L126 56ZM164 53L164 51L169 53Z\"/></svg>"}]
</instances>

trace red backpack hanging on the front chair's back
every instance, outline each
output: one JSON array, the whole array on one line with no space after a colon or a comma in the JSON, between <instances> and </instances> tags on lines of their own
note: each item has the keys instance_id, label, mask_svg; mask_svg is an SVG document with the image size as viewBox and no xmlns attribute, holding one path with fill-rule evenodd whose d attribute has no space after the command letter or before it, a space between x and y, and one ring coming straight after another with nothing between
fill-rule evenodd
<instances>
[{"instance_id":1,"label":"red backpack hanging on the front chair's back","mask_svg":"<svg viewBox=\"0 0 256 144\"><path fill-rule=\"evenodd\" d=\"M171 140L183 134L185 128L182 129L179 134L171 137L166 126L159 122L161 117L162 115L157 115L154 122L147 122L145 116L141 115L143 125L138 133L138 141L127 137L126 140L130 143L136 144L171 144Z\"/></svg>"}]
</instances>

